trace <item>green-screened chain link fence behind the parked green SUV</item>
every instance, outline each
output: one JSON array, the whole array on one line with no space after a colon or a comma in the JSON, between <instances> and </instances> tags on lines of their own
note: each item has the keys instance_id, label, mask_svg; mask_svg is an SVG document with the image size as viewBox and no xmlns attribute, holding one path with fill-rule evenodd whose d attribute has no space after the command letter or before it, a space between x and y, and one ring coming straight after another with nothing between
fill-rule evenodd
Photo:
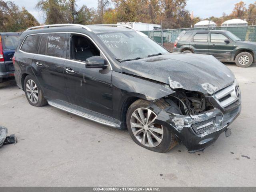
<instances>
[{"instance_id":1,"label":"green-screened chain link fence behind the parked green SUV","mask_svg":"<svg viewBox=\"0 0 256 192\"><path fill-rule=\"evenodd\" d=\"M207 30L208 28L182 28L182 29L167 29L142 31L144 34L154 39L156 42L163 44L165 48L172 51L174 41L180 32L186 30ZM238 36L243 41L256 42L256 26L235 26L235 27L215 27L210 30L227 30Z\"/></svg>"}]
</instances>

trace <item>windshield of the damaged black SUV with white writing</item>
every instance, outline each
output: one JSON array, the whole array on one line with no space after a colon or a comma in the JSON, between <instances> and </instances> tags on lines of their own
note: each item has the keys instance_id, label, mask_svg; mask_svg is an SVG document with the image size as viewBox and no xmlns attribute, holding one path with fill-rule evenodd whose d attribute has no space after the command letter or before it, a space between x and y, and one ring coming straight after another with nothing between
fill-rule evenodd
<instances>
[{"instance_id":1,"label":"windshield of the damaged black SUV with white writing","mask_svg":"<svg viewBox=\"0 0 256 192\"><path fill-rule=\"evenodd\" d=\"M98 37L118 60L140 59L168 53L165 48L140 32L110 32L98 34Z\"/></svg>"}]
</instances>

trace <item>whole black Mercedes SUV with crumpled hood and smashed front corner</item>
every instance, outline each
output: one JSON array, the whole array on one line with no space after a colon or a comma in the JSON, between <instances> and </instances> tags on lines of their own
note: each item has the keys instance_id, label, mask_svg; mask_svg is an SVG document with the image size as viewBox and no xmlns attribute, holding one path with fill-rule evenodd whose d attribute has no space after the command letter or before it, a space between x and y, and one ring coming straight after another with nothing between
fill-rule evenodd
<instances>
[{"instance_id":1,"label":"whole black Mercedes SUV with crumpled hood and smashed front corner","mask_svg":"<svg viewBox=\"0 0 256 192\"><path fill-rule=\"evenodd\" d=\"M31 105L128 128L134 142L155 152L178 142L204 150L241 110L234 74L216 58L170 53L124 26L29 28L14 67Z\"/></svg>"}]
</instances>

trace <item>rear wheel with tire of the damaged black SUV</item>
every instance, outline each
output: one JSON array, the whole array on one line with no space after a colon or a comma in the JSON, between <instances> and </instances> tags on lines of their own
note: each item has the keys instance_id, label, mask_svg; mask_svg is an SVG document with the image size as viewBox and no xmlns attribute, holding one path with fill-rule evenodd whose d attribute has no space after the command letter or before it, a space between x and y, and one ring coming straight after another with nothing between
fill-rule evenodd
<instances>
[{"instance_id":1,"label":"rear wheel with tire of the damaged black SUV","mask_svg":"<svg viewBox=\"0 0 256 192\"><path fill-rule=\"evenodd\" d=\"M47 101L43 96L43 92L34 77L30 75L26 76L24 80L24 91L30 105L41 107L47 104Z\"/></svg>"}]
</instances>

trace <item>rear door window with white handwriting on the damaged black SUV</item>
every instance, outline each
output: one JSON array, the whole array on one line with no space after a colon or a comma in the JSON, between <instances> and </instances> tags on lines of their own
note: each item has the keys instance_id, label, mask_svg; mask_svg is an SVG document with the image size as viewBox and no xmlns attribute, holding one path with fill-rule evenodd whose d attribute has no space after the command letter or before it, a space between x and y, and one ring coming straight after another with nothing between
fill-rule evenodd
<instances>
[{"instance_id":1,"label":"rear door window with white handwriting on the damaged black SUV","mask_svg":"<svg viewBox=\"0 0 256 192\"><path fill-rule=\"evenodd\" d=\"M66 46L65 46L66 39L67 39L67 34L65 33L47 34L46 55L64 58L64 56L66 55ZM42 43L42 46L44 46L44 43ZM40 46L40 49L41 49L41 46ZM43 48L42 48L42 51L43 51Z\"/></svg>"}]
</instances>

